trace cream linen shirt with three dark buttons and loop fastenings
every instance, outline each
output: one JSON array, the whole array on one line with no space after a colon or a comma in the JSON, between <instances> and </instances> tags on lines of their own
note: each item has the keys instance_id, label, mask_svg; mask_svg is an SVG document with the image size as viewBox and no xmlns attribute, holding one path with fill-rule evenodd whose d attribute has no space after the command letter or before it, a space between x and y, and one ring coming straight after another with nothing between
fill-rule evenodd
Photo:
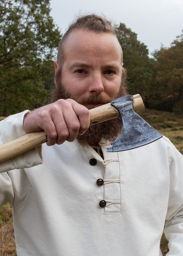
<instances>
[{"instance_id":1,"label":"cream linen shirt with three dark buttons and loop fastenings","mask_svg":"<svg viewBox=\"0 0 183 256\"><path fill-rule=\"evenodd\" d=\"M25 134L26 112L0 122L0 144ZM167 255L183 255L183 156L166 137L127 151L108 146L101 141L104 160L65 142L0 163L18 256L160 256L164 225Z\"/></svg>"}]
</instances>

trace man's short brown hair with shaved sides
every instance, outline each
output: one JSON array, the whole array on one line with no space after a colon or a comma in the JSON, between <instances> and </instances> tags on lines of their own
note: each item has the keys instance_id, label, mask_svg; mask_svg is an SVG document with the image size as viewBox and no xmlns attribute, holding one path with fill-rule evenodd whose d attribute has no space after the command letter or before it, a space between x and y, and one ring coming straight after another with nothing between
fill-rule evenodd
<instances>
[{"instance_id":1,"label":"man's short brown hair with shaved sides","mask_svg":"<svg viewBox=\"0 0 183 256\"><path fill-rule=\"evenodd\" d=\"M76 31L77 29L84 29L95 33L110 33L112 35L115 35L117 38L116 27L113 26L110 21L106 20L105 17L101 17L96 14L78 17L78 19L69 26L67 32L63 35L58 45L57 62L59 65L59 70L61 70L64 64L65 41L67 40L70 33Z\"/></svg>"}]
</instances>

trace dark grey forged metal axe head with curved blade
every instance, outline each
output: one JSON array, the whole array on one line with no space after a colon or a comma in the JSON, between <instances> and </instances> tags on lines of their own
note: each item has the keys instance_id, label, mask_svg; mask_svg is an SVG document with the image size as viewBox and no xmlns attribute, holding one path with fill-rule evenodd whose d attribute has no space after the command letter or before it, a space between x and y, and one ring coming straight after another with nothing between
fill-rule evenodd
<instances>
[{"instance_id":1,"label":"dark grey forged metal axe head with curved blade","mask_svg":"<svg viewBox=\"0 0 183 256\"><path fill-rule=\"evenodd\" d=\"M133 96L125 95L114 99L111 105L115 107L122 118L122 134L111 143L109 152L125 151L132 148L138 148L163 137L151 125L145 122L133 108Z\"/></svg>"}]
</instances>

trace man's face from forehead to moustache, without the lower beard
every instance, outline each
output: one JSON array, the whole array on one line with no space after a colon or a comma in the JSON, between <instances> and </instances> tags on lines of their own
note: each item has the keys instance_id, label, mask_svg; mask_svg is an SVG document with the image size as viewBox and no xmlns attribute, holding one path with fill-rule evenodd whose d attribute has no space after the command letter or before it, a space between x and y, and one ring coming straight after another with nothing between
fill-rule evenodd
<instances>
[{"instance_id":1,"label":"man's face from forehead to moustache, without the lower beard","mask_svg":"<svg viewBox=\"0 0 183 256\"><path fill-rule=\"evenodd\" d=\"M58 70L55 62L55 71ZM64 45L61 84L88 109L116 98L122 78L122 49L110 33L71 32Z\"/></svg>"}]
</instances>

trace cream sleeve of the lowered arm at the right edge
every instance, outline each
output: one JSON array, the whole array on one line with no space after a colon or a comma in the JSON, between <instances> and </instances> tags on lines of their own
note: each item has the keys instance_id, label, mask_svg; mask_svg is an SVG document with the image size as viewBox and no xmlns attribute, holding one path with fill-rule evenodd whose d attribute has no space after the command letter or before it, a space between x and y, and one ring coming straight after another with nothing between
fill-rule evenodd
<instances>
[{"instance_id":1,"label":"cream sleeve of the lowered arm at the right edge","mask_svg":"<svg viewBox=\"0 0 183 256\"><path fill-rule=\"evenodd\" d=\"M167 256L183 255L183 155L172 145L170 188L164 233L168 239Z\"/></svg>"}]
</instances>

